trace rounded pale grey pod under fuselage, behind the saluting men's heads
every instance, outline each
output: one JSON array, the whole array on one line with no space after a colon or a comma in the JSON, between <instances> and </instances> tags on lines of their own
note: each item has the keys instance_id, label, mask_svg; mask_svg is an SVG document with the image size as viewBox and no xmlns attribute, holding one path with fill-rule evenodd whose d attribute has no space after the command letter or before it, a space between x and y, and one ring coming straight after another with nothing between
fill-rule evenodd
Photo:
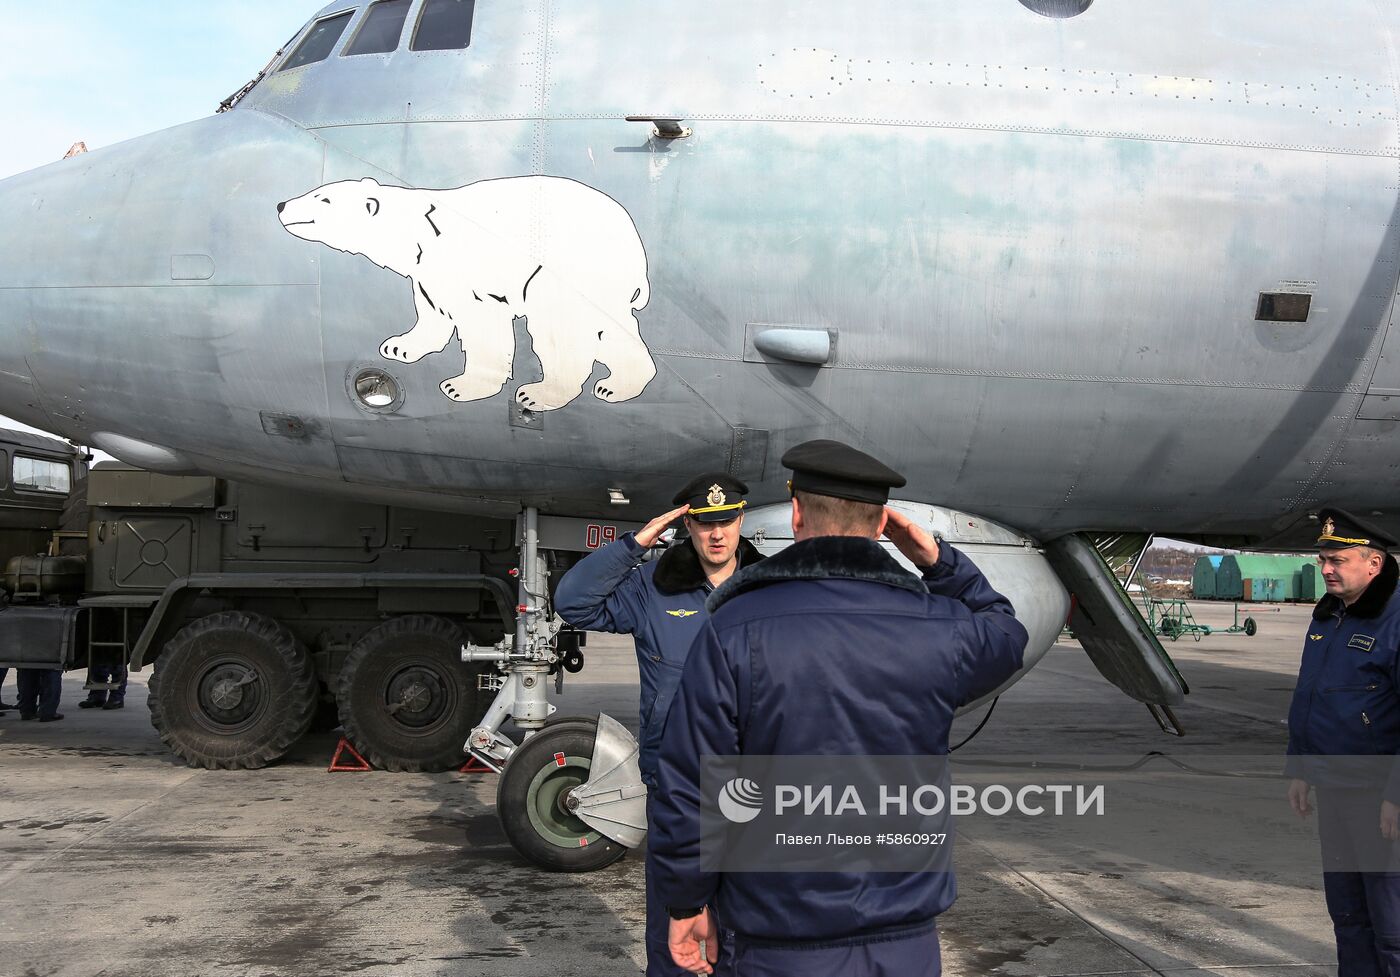
<instances>
[{"instance_id":1,"label":"rounded pale grey pod under fuselage, behind the saluting men's heads","mask_svg":"<svg viewBox=\"0 0 1400 977\"><path fill-rule=\"evenodd\" d=\"M1021 670L995 691L965 705L960 712L966 712L1011 687L1050 651L1070 614L1070 595L1035 540L1015 529L939 505L893 500L889 505L972 557L991 585L1011 599L1016 620L1030 635ZM777 553L792 543L791 514L787 504L753 508L743 516L743 535L760 553ZM893 543L882 540L882 544L902 565L913 570Z\"/></svg>"}]
</instances>

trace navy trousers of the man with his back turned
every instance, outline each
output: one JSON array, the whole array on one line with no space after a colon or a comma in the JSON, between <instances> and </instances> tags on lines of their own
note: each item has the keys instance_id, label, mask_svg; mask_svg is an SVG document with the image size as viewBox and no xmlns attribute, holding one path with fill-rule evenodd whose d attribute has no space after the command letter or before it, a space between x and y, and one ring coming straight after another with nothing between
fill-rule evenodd
<instances>
[{"instance_id":1,"label":"navy trousers of the man with his back turned","mask_svg":"<svg viewBox=\"0 0 1400 977\"><path fill-rule=\"evenodd\" d=\"M773 946L738 936L734 955L717 977L939 977L944 973L938 928L868 943ZM728 964L728 966L725 966Z\"/></svg>"}]
</instances>

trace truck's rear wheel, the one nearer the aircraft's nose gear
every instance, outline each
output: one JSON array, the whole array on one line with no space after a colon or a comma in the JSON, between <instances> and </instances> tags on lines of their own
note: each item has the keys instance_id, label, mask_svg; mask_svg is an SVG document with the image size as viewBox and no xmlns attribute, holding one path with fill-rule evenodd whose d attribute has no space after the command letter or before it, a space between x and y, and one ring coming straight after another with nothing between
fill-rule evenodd
<instances>
[{"instance_id":1,"label":"truck's rear wheel, the one nearer the aircraft's nose gear","mask_svg":"<svg viewBox=\"0 0 1400 977\"><path fill-rule=\"evenodd\" d=\"M336 676L346 736L381 770L452 770L487 703L479 666L462 663L462 631L409 614L356 641Z\"/></svg>"}]
</instances>

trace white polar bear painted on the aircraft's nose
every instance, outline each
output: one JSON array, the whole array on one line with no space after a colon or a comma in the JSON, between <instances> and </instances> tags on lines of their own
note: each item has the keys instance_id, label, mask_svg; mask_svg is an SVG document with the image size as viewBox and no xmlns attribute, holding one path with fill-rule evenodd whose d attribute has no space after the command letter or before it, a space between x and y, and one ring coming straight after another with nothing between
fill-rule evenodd
<instances>
[{"instance_id":1,"label":"white polar bear painted on the aircraft's nose","mask_svg":"<svg viewBox=\"0 0 1400 977\"><path fill-rule=\"evenodd\" d=\"M493 396L511 378L514 319L525 316L545 377L515 399L556 410L603 364L594 396L631 400L657 365L634 312L648 300L647 252L631 216L601 190L561 176L507 176L448 190L374 179L326 183L277 204L283 227L409 279L419 318L379 346L416 363L462 342L454 400Z\"/></svg>"}]
</instances>

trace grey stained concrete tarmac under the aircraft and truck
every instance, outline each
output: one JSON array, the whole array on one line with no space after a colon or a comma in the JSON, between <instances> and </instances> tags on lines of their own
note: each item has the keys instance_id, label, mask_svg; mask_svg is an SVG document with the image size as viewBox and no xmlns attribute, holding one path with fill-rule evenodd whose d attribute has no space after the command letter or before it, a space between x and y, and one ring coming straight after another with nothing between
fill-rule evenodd
<instances>
[{"instance_id":1,"label":"grey stained concrete tarmac under the aircraft and truck","mask_svg":"<svg viewBox=\"0 0 1400 977\"><path fill-rule=\"evenodd\" d=\"M1205 624L1232 623L1229 605L1191 606ZM1309 610L1252 606L1254 637L1166 642L1191 686L1176 711L1184 738L1162 733L1068 638L1002 694L959 760L1053 754L1098 770L1163 752L1190 770L1155 757L1137 774L1093 774L1109 784L1113 830L960 829L944 973L1334 974L1315 829L1267 773L1284 753ZM591 635L585 654L560 711L636 729L630 640ZM307 736L266 770L185 767L150 725L148 675L133 673L122 711L78 710L74 672L63 722L0 717L0 974L643 971L640 852L588 875L542 872L507 844L493 774L328 773L339 733ZM984 712L960 718L953 740ZM1200 773L1252 761L1254 780Z\"/></svg>"}]
</instances>

